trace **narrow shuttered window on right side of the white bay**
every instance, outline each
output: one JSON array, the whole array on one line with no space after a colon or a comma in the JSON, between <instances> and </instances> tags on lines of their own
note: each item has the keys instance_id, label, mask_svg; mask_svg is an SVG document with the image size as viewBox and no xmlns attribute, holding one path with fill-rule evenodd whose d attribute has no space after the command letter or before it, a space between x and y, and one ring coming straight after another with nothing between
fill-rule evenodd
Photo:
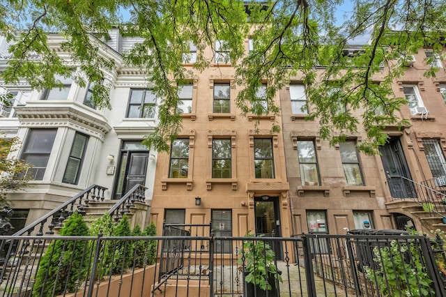
<instances>
[{"instance_id":1,"label":"narrow shuttered window on right side of the white bay","mask_svg":"<svg viewBox=\"0 0 446 297\"><path fill-rule=\"evenodd\" d=\"M82 159L84 158L86 143L89 137L81 133L76 133L75 139L72 142L70 158L68 158L65 174L63 174L63 183L77 184L79 178L79 171L82 165Z\"/></svg>"}]
</instances>

